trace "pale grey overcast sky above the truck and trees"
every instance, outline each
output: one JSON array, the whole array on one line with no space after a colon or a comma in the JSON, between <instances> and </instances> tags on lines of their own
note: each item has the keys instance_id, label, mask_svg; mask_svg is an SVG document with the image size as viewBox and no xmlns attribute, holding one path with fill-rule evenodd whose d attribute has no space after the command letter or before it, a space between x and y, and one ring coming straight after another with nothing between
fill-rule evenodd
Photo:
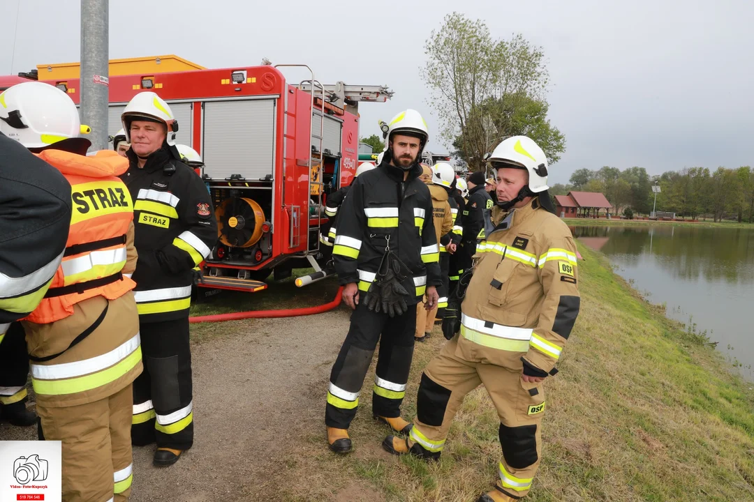
<instances>
[{"instance_id":1,"label":"pale grey overcast sky above the truck and trees","mask_svg":"<svg viewBox=\"0 0 754 502\"><path fill-rule=\"evenodd\" d=\"M78 61L79 5L0 0L0 75ZM404 108L425 114L432 132L437 121L419 68L431 30L454 10L484 20L495 38L520 32L543 47L550 119L567 141L551 183L582 167L644 166L657 174L754 163L754 2L747 0L128 0L111 2L109 56L174 53L207 68L258 65L262 57L305 63L326 84L395 91L388 103L360 107L361 135ZM430 148L447 151L437 141Z\"/></svg>"}]
</instances>

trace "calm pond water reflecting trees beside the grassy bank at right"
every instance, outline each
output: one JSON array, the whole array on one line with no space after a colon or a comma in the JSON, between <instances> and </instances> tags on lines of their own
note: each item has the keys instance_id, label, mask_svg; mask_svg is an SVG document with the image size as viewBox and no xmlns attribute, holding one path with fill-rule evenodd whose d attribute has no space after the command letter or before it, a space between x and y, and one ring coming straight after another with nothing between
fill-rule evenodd
<instances>
[{"instance_id":1,"label":"calm pond water reflecting trees beside the grassy bank at right","mask_svg":"<svg viewBox=\"0 0 754 502\"><path fill-rule=\"evenodd\" d=\"M754 229L654 225L571 231L585 245L605 253L652 303L665 303L671 318L691 321L720 342L718 348L731 359L754 367L749 316L754 300Z\"/></svg>"}]
</instances>

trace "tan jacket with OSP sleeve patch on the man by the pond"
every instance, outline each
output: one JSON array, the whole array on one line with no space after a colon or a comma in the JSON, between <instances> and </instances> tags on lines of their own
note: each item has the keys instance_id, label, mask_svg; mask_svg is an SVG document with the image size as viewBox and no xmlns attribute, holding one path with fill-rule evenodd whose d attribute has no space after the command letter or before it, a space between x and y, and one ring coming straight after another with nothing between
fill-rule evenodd
<instances>
[{"instance_id":1,"label":"tan jacket with OSP sleeve patch on the man by the pond","mask_svg":"<svg viewBox=\"0 0 754 502\"><path fill-rule=\"evenodd\" d=\"M569 228L534 199L510 211L474 258L461 304L461 357L554 375L581 304Z\"/></svg>"}]
</instances>

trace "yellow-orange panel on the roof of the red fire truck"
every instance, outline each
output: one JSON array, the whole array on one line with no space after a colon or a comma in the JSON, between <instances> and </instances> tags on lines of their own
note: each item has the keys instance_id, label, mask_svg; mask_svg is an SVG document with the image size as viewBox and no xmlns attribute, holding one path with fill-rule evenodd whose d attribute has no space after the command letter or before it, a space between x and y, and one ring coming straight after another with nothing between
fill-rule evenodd
<instances>
[{"instance_id":1,"label":"yellow-orange panel on the roof of the red fire truck","mask_svg":"<svg viewBox=\"0 0 754 502\"><path fill-rule=\"evenodd\" d=\"M188 61L175 54L164 56L131 57L127 59L110 59L109 76L115 75L154 75L168 71L204 70L204 66ZM61 62L54 65L37 65L39 80L66 80L79 78L81 63Z\"/></svg>"}]
</instances>

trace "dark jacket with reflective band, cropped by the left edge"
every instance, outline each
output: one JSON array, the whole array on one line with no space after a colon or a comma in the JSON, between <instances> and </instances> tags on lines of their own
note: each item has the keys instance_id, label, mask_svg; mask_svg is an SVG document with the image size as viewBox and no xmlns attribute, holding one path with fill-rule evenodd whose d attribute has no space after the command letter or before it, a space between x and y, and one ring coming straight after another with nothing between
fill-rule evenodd
<instances>
[{"instance_id":1,"label":"dark jacket with reflective band, cropped by the left edge","mask_svg":"<svg viewBox=\"0 0 754 502\"><path fill-rule=\"evenodd\" d=\"M71 208L66 178L0 134L0 339L48 291L63 260Z\"/></svg>"}]
</instances>

